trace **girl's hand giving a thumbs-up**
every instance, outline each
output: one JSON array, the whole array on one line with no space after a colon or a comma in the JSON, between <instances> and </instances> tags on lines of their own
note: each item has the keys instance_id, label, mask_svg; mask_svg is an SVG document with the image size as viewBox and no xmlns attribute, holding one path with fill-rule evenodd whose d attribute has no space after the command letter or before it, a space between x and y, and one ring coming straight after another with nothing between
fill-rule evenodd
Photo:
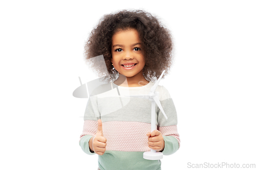
<instances>
[{"instance_id":1,"label":"girl's hand giving a thumbs-up","mask_svg":"<svg viewBox=\"0 0 256 170\"><path fill-rule=\"evenodd\" d=\"M89 141L89 148L98 155L103 155L106 150L106 138L103 137L102 122L98 119L98 130Z\"/></svg>"}]
</instances>

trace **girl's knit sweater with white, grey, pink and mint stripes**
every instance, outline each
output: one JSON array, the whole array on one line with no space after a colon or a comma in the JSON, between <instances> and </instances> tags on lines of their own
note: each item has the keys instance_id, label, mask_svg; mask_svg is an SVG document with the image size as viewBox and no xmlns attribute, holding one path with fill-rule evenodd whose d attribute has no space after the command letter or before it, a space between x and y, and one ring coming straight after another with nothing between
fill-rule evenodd
<instances>
[{"instance_id":1,"label":"girl's knit sweater with white, grey, pink and mint stripes","mask_svg":"<svg viewBox=\"0 0 256 170\"><path fill-rule=\"evenodd\" d=\"M146 133L151 132L151 101L141 98L130 98L127 95L143 95L150 92L153 82L140 87L122 87L114 83L101 85L98 90L107 92L93 93L84 113L83 131L79 145L82 150L93 155L89 149L89 140L96 134L97 120L102 121L103 136L106 138L106 151L98 156L101 170L109 169L161 169L161 161L146 160L143 152L150 151ZM156 106L156 128L164 138L165 147L162 153L170 155L180 146L177 132L177 113L169 92L158 85L159 99L168 119L166 120Z\"/></svg>"}]
</instances>

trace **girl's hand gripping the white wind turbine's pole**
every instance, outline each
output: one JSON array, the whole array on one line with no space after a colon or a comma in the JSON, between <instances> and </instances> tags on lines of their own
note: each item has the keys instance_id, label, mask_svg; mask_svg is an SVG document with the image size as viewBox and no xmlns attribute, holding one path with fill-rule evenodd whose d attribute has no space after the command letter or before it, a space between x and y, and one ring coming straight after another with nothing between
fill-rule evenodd
<instances>
[{"instance_id":1,"label":"girl's hand gripping the white wind turbine's pole","mask_svg":"<svg viewBox=\"0 0 256 170\"><path fill-rule=\"evenodd\" d=\"M158 130L154 130L153 132L148 132L148 147L155 151L162 152L164 149L164 140L162 133Z\"/></svg>"}]
</instances>

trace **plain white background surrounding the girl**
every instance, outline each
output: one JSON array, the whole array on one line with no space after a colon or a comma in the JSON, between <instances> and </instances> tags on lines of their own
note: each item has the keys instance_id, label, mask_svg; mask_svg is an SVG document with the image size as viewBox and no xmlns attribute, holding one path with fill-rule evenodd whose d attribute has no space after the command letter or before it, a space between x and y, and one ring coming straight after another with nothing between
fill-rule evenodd
<instances>
[{"instance_id":1,"label":"plain white background surrounding the girl","mask_svg":"<svg viewBox=\"0 0 256 170\"><path fill-rule=\"evenodd\" d=\"M167 1L166 1L167 2ZM97 169L79 147L89 76L83 45L104 15L144 9L172 31L162 80L178 112L181 147L162 169L256 163L255 1L6 1L1 17L1 169Z\"/></svg>"}]
</instances>

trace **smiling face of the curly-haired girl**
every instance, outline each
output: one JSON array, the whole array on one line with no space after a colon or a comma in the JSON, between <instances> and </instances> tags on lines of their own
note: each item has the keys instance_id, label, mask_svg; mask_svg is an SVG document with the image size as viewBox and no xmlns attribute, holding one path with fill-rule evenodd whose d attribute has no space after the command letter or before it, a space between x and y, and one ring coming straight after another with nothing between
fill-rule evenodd
<instances>
[{"instance_id":1,"label":"smiling face of the curly-haired girl","mask_svg":"<svg viewBox=\"0 0 256 170\"><path fill-rule=\"evenodd\" d=\"M119 74L125 77L143 74L145 61L137 30L121 30L115 33L111 47L112 63Z\"/></svg>"}]
</instances>

